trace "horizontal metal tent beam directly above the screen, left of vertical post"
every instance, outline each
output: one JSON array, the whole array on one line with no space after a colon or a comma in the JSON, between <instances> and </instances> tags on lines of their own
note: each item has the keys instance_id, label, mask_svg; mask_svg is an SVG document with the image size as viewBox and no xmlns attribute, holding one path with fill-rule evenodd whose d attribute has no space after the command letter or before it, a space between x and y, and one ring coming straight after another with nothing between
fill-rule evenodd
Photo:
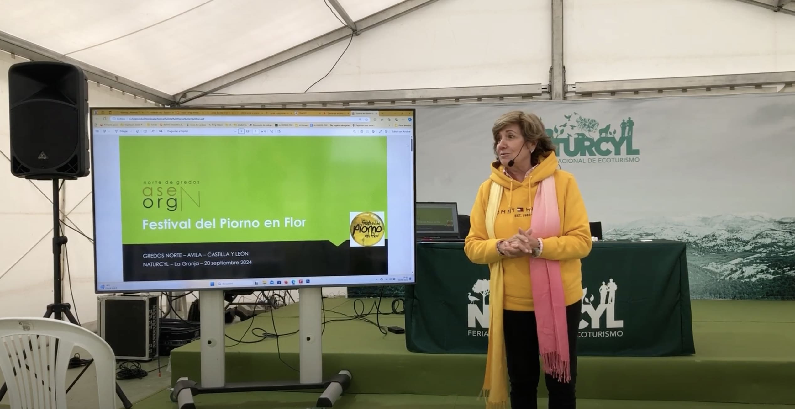
<instances>
[{"instance_id":1,"label":"horizontal metal tent beam directly above the screen, left of vertical post","mask_svg":"<svg viewBox=\"0 0 795 409\"><path fill-rule=\"evenodd\" d=\"M411 104L417 101L516 98L544 95L545 85L518 84L492 87L423 88L356 92L301 92L295 94L207 95L184 107L242 107L254 105L301 105L346 103Z\"/></svg>"}]
</instances>

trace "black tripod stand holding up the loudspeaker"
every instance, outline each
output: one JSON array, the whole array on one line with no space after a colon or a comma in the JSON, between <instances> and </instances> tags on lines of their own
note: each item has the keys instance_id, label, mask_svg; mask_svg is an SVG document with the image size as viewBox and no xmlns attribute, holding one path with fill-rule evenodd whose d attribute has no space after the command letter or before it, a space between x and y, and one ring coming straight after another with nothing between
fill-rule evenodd
<instances>
[{"instance_id":1,"label":"black tripod stand holding up the loudspeaker","mask_svg":"<svg viewBox=\"0 0 795 409\"><path fill-rule=\"evenodd\" d=\"M72 306L69 305L68 302L63 302L60 286L61 286L61 279L60 279L60 247L66 244L68 239L66 236L60 235L60 189L58 186L58 179L52 179L52 294L54 298L54 302L47 306L47 312L45 313L45 318L52 317L52 314L55 314L56 320L62 320L64 315L68 318L68 321L74 325L80 326L80 323L77 322L77 319L74 315L72 315ZM56 353L58 350L56 341ZM85 367L83 367L83 371L72 381L72 385L67 388L67 392L72 389L72 386L80 379L80 376L83 376L83 373L86 372L86 369L91 365L94 360L88 361ZM0 387L0 400L6 396L6 392L8 391L8 385L5 383L2 384ZM127 396L122 391L122 387L118 386L116 383L116 395L118 395L118 399L122 400L122 404L124 404L125 409L130 409L133 407L133 404L130 403L130 399L127 399Z\"/></svg>"}]
</instances>

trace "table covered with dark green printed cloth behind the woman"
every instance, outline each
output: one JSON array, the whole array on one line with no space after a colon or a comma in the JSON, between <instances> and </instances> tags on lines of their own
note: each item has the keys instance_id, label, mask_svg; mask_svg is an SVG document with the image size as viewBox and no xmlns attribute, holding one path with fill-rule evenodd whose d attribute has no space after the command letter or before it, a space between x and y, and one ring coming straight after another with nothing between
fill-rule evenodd
<instances>
[{"instance_id":1,"label":"table covered with dark green printed cloth behind the woman","mask_svg":"<svg viewBox=\"0 0 795 409\"><path fill-rule=\"evenodd\" d=\"M595 242L582 264L579 355L695 353L685 243ZM471 263L463 243L418 243L416 274L405 287L409 351L486 353L488 266Z\"/></svg>"}]
</instances>

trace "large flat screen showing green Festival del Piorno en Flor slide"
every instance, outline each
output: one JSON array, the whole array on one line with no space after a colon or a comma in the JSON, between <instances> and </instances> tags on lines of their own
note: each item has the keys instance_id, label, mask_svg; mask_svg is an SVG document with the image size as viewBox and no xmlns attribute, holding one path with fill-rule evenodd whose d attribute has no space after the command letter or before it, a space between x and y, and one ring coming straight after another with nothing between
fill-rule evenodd
<instances>
[{"instance_id":1,"label":"large flat screen showing green Festival del Piorno en Flor slide","mask_svg":"<svg viewBox=\"0 0 795 409\"><path fill-rule=\"evenodd\" d=\"M413 110L91 108L98 293L414 282Z\"/></svg>"}]
</instances>

